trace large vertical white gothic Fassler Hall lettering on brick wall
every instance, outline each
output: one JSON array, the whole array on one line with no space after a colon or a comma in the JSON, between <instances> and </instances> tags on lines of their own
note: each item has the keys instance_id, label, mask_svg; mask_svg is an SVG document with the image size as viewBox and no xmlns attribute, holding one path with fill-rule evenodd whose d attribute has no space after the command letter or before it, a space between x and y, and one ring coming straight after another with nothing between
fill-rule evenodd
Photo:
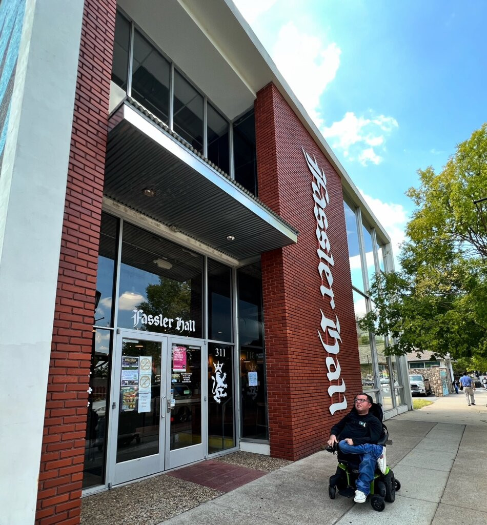
<instances>
[{"instance_id":1,"label":"large vertical white gothic Fassler Hall lettering on brick wall","mask_svg":"<svg viewBox=\"0 0 487 525\"><path fill-rule=\"evenodd\" d=\"M313 192L313 201L314 201L314 216L316 218L316 239L318 241L318 249L316 254L319 259L318 264L318 273L321 278L320 292L323 299L326 299L330 302L330 307L332 310L335 309L335 298L333 294L333 276L331 267L334 265L333 255L331 252L330 239L326 234L328 228L328 219L326 218L325 208L326 205L330 202L330 196L326 191L326 177L323 170L320 170L316 159L312 159L308 153L303 149L304 158L310 169L311 174L313 175L313 182L311 183L311 188ZM321 331L318 330L318 337L320 338L321 344L326 352L326 368L328 370L326 377L331 382L328 387L328 395L330 398L333 398L333 394L344 393L345 392L345 381L343 377L340 377L341 367L338 362L338 352L340 352L340 343L342 339L340 337L340 321L338 316L335 314L335 320L329 319L321 310ZM331 343L331 344L330 344ZM340 379L342 380L340 384ZM340 403L332 403L330 405L330 412L332 415L337 410L343 410L347 407L347 400L345 395L343 396L343 401Z\"/></svg>"}]
</instances>

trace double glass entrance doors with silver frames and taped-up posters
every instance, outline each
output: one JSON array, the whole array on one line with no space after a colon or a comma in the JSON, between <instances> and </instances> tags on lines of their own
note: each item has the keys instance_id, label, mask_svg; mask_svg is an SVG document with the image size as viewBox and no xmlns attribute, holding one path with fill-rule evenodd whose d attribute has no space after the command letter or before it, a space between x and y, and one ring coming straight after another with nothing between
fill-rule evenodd
<instances>
[{"instance_id":1,"label":"double glass entrance doors with silver frames and taped-up posters","mask_svg":"<svg viewBox=\"0 0 487 525\"><path fill-rule=\"evenodd\" d=\"M203 342L127 330L116 350L112 484L203 459Z\"/></svg>"}]
</instances>

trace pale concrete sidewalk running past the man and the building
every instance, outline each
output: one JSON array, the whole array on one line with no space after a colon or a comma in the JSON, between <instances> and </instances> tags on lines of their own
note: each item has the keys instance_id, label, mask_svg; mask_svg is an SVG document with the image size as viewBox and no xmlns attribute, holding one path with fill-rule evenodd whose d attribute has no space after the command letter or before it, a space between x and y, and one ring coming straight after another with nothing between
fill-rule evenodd
<instances>
[{"instance_id":1,"label":"pale concrete sidewalk running past the man and the building","mask_svg":"<svg viewBox=\"0 0 487 525\"><path fill-rule=\"evenodd\" d=\"M387 463L401 489L383 512L339 495L329 499L336 456L323 451L163 523L487 525L486 397L478 390L477 406L467 406L463 394L452 394L386 422L393 439Z\"/></svg>"}]
</instances>

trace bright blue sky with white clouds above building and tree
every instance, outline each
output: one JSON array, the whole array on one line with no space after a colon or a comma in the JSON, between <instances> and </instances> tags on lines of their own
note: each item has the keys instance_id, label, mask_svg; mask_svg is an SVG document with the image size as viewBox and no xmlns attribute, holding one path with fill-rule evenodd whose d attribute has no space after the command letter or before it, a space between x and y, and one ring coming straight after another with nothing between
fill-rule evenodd
<instances>
[{"instance_id":1,"label":"bright blue sky with white clouds above building and tree","mask_svg":"<svg viewBox=\"0 0 487 525\"><path fill-rule=\"evenodd\" d=\"M234 2L397 245L417 170L487 121L487 2Z\"/></svg>"}]
</instances>

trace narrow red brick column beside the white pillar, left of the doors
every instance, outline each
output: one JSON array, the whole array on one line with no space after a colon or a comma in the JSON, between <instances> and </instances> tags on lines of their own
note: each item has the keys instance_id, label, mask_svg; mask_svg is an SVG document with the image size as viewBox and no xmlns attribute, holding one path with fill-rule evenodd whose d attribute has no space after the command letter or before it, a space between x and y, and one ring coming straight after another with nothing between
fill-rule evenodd
<instances>
[{"instance_id":1,"label":"narrow red brick column beside the white pillar, left of the doors","mask_svg":"<svg viewBox=\"0 0 487 525\"><path fill-rule=\"evenodd\" d=\"M79 523L116 0L85 0L36 523Z\"/></svg>"}]
</instances>

